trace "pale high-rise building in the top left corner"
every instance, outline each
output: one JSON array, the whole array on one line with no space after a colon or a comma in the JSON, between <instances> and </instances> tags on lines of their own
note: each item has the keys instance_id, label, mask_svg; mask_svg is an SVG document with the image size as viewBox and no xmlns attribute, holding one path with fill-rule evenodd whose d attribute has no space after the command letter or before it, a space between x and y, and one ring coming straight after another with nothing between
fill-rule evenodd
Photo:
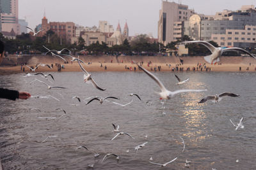
<instances>
[{"instance_id":1,"label":"pale high-rise building in the top left corner","mask_svg":"<svg viewBox=\"0 0 256 170\"><path fill-rule=\"evenodd\" d=\"M18 0L0 0L0 20L1 32L11 32L20 34L19 24L19 1Z\"/></svg>"}]
</instances>

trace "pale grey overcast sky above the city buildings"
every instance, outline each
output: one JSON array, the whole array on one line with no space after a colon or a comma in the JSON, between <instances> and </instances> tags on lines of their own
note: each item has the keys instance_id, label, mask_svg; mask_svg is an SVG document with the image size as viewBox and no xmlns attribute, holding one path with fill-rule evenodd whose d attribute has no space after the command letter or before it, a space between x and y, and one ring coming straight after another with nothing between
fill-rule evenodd
<instances>
[{"instance_id":1,"label":"pale grey overcast sky above the city buildings","mask_svg":"<svg viewBox=\"0 0 256 170\"><path fill-rule=\"evenodd\" d=\"M172 2L171 0L168 0ZM214 15L222 10L239 10L242 5L255 5L256 0L180 0L196 13ZM74 22L92 27L99 20L107 20L114 29L125 20L129 36L152 33L157 38L157 22L162 0L19 0L19 18L26 18L29 27L41 24L45 15L48 22ZM179 0L173 0L179 3Z\"/></svg>"}]
</instances>

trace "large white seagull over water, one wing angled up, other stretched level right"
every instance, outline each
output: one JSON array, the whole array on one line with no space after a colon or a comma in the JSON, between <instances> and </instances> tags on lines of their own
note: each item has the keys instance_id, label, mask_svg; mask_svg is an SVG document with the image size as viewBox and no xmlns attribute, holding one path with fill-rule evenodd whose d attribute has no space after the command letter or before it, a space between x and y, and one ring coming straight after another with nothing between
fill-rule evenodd
<instances>
[{"instance_id":1,"label":"large white seagull over water, one wing angled up, other stretched level right","mask_svg":"<svg viewBox=\"0 0 256 170\"><path fill-rule=\"evenodd\" d=\"M179 94L179 93L182 93L182 92L203 92L203 91L206 91L206 90L193 90L193 89L176 90L176 91L173 91L173 92L169 91L164 87L163 83L156 76L154 76L154 74L147 71L147 69L141 67L138 63L136 63L136 64L146 74L148 74L148 76L150 76L150 78L152 78L154 81L156 81L157 85L159 85L159 87L161 89L161 92L158 93L160 95L160 99L170 99L171 97L175 96L175 94Z\"/></svg>"}]
</instances>

